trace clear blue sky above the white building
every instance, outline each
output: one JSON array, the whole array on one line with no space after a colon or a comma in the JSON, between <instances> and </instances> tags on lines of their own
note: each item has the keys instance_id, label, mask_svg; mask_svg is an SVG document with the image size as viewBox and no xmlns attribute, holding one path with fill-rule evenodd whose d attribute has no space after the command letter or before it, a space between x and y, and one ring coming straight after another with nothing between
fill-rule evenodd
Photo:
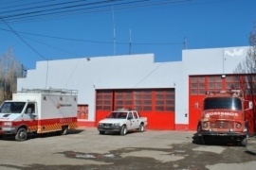
<instances>
[{"instance_id":1,"label":"clear blue sky above the white building","mask_svg":"<svg viewBox=\"0 0 256 170\"><path fill-rule=\"evenodd\" d=\"M188 49L247 46L256 21L255 0L119 0L98 5L98 11L7 17L64 2L63 7L71 5L71 0L1 1L0 55L12 48L27 69L39 60L128 54L154 53L156 62L176 61L185 37ZM78 3L101 2L106 1ZM119 8L121 3L134 5Z\"/></svg>"}]
</instances>

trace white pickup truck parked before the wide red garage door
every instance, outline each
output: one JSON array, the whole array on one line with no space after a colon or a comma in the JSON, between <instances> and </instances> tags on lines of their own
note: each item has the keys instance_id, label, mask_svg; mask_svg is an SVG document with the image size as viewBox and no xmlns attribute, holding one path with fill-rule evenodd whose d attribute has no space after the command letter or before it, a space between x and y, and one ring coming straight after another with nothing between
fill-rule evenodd
<instances>
[{"instance_id":1,"label":"white pickup truck parked before the wide red garage door","mask_svg":"<svg viewBox=\"0 0 256 170\"><path fill-rule=\"evenodd\" d=\"M99 122L98 130L100 134L116 131L120 135L126 135L131 129L138 129L142 132L147 125L147 117L139 117L137 110L114 110Z\"/></svg>"}]
</instances>

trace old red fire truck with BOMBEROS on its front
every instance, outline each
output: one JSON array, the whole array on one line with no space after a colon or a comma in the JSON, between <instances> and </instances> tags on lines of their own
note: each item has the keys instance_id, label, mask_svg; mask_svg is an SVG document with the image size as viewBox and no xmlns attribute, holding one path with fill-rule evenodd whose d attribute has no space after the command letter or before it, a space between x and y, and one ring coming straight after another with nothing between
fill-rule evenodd
<instances>
[{"instance_id":1,"label":"old red fire truck with BOMBEROS on its front","mask_svg":"<svg viewBox=\"0 0 256 170\"><path fill-rule=\"evenodd\" d=\"M240 90L207 92L201 103L202 117L197 132L203 144L228 138L247 145L248 124L246 111L252 109L252 102L244 98ZM199 103L195 103L199 108Z\"/></svg>"}]
</instances>

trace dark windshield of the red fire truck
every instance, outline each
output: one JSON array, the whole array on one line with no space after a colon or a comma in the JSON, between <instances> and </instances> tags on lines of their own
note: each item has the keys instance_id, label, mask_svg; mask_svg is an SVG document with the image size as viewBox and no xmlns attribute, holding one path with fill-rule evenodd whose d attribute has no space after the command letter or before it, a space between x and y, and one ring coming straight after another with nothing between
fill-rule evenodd
<instances>
[{"instance_id":1,"label":"dark windshield of the red fire truck","mask_svg":"<svg viewBox=\"0 0 256 170\"><path fill-rule=\"evenodd\" d=\"M233 97L212 97L204 101L204 110L242 110L242 102Z\"/></svg>"}]
</instances>

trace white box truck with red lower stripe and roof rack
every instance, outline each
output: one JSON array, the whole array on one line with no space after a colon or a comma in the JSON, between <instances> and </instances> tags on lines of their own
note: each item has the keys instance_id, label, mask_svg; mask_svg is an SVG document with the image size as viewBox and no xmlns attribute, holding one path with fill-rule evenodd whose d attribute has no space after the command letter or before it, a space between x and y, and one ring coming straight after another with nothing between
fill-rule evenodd
<instances>
[{"instance_id":1,"label":"white box truck with red lower stripe and roof rack","mask_svg":"<svg viewBox=\"0 0 256 170\"><path fill-rule=\"evenodd\" d=\"M27 133L66 134L77 127L77 91L23 89L0 107L0 137L14 135L27 140Z\"/></svg>"}]
</instances>

